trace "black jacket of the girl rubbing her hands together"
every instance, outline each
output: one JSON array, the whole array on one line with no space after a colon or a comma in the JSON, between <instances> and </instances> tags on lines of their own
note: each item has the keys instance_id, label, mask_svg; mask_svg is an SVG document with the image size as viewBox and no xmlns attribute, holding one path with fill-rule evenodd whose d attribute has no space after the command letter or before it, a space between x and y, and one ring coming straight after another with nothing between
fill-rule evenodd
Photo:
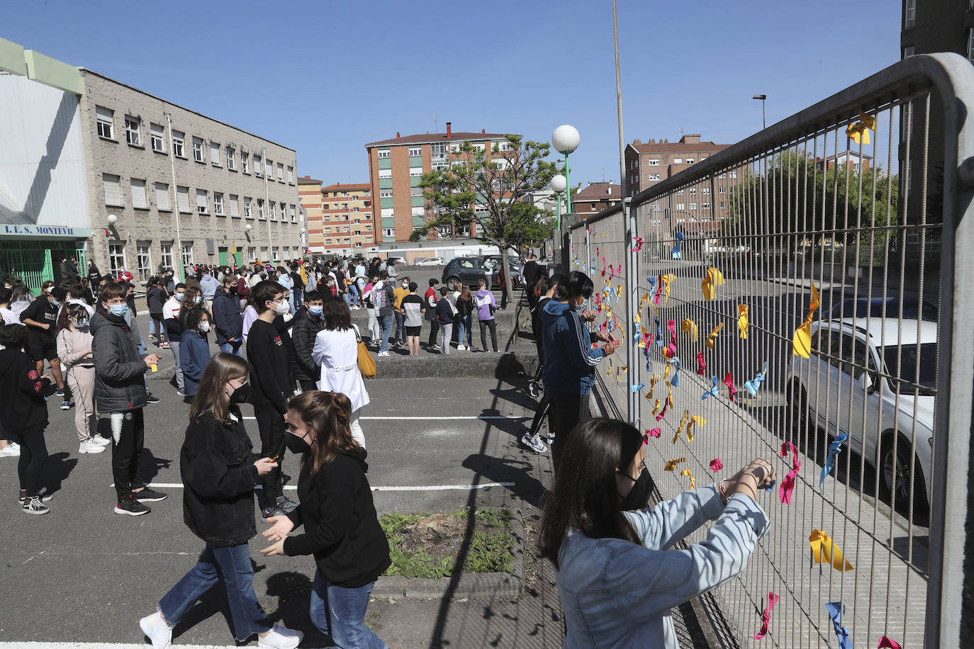
<instances>
[{"instance_id":1,"label":"black jacket of the girl rubbing her hands together","mask_svg":"<svg viewBox=\"0 0 974 649\"><path fill-rule=\"evenodd\" d=\"M298 479L301 504L288 515L305 533L284 540L288 557L314 555L332 584L359 588L374 582L392 563L365 472L365 451L340 451L311 476L306 453Z\"/></svg>"}]
</instances>

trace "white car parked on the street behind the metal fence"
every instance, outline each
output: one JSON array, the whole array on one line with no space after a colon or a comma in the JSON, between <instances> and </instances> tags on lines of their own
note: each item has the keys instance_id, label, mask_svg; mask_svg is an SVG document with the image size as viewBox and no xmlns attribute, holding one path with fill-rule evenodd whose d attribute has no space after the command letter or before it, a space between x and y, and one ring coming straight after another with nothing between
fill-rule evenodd
<instances>
[{"instance_id":1,"label":"white car parked on the street behind the metal fence","mask_svg":"<svg viewBox=\"0 0 974 649\"><path fill-rule=\"evenodd\" d=\"M896 501L906 504L913 496L915 510L928 511L937 323L870 318L868 324L865 318L811 324L811 358L791 357L789 408L800 431L814 417L831 437L847 433L851 449L877 467L880 495L887 498L894 488L898 435ZM913 493L911 465L916 467Z\"/></svg>"}]
</instances>

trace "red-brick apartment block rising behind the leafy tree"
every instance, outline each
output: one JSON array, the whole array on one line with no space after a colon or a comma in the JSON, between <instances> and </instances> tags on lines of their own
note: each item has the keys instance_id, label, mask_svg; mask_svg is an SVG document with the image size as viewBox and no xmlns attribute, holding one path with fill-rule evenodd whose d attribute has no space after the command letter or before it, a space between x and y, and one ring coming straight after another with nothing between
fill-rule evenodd
<instances>
[{"instance_id":1,"label":"red-brick apartment block rising behind the leafy tree","mask_svg":"<svg viewBox=\"0 0 974 649\"><path fill-rule=\"evenodd\" d=\"M451 152L465 141L487 152L492 151L495 144L502 148L507 145L503 133L486 130L454 132L450 122L446 123L445 133L396 133L388 140L365 145L372 196L379 198L381 222L377 222L377 228L381 228L381 233L376 237L376 243L408 241L413 230L426 225L432 215L427 214L420 178L433 169L446 168L450 164ZM464 228L444 227L439 234L443 237L472 236L476 234L476 224Z\"/></svg>"}]
</instances>

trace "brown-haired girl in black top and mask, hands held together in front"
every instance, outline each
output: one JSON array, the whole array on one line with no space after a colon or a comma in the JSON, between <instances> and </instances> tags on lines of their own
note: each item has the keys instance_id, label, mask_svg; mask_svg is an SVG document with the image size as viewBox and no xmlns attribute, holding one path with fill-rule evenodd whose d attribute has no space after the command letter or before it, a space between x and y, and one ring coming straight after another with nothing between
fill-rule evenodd
<instances>
[{"instance_id":1,"label":"brown-haired girl in black top and mask, hands held together in front","mask_svg":"<svg viewBox=\"0 0 974 649\"><path fill-rule=\"evenodd\" d=\"M386 647L365 626L369 594L391 561L389 543L376 517L365 477L365 450L352 439L349 398L338 392L303 392L288 402L288 450L303 452L301 504L264 536L274 545L267 557L314 555L318 564L311 593L311 619L339 647ZM300 536L287 536L305 526Z\"/></svg>"}]
</instances>

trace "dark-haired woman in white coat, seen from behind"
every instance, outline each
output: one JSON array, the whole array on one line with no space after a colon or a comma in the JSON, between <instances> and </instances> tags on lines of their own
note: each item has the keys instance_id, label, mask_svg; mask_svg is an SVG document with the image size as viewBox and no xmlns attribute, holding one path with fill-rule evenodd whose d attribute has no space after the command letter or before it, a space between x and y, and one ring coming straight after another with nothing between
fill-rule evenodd
<instances>
[{"instance_id":1,"label":"dark-haired woman in white coat, seen from behind","mask_svg":"<svg viewBox=\"0 0 974 649\"><path fill-rule=\"evenodd\" d=\"M352 438L362 449L365 448L365 435L358 423L358 415L363 406L368 405L368 392L365 381L358 371L358 328L352 324L352 310L344 300L331 299L321 307L324 329L315 337L312 357L321 367L321 380L318 389L327 392L341 392L352 402L352 416L349 427Z\"/></svg>"}]
</instances>

